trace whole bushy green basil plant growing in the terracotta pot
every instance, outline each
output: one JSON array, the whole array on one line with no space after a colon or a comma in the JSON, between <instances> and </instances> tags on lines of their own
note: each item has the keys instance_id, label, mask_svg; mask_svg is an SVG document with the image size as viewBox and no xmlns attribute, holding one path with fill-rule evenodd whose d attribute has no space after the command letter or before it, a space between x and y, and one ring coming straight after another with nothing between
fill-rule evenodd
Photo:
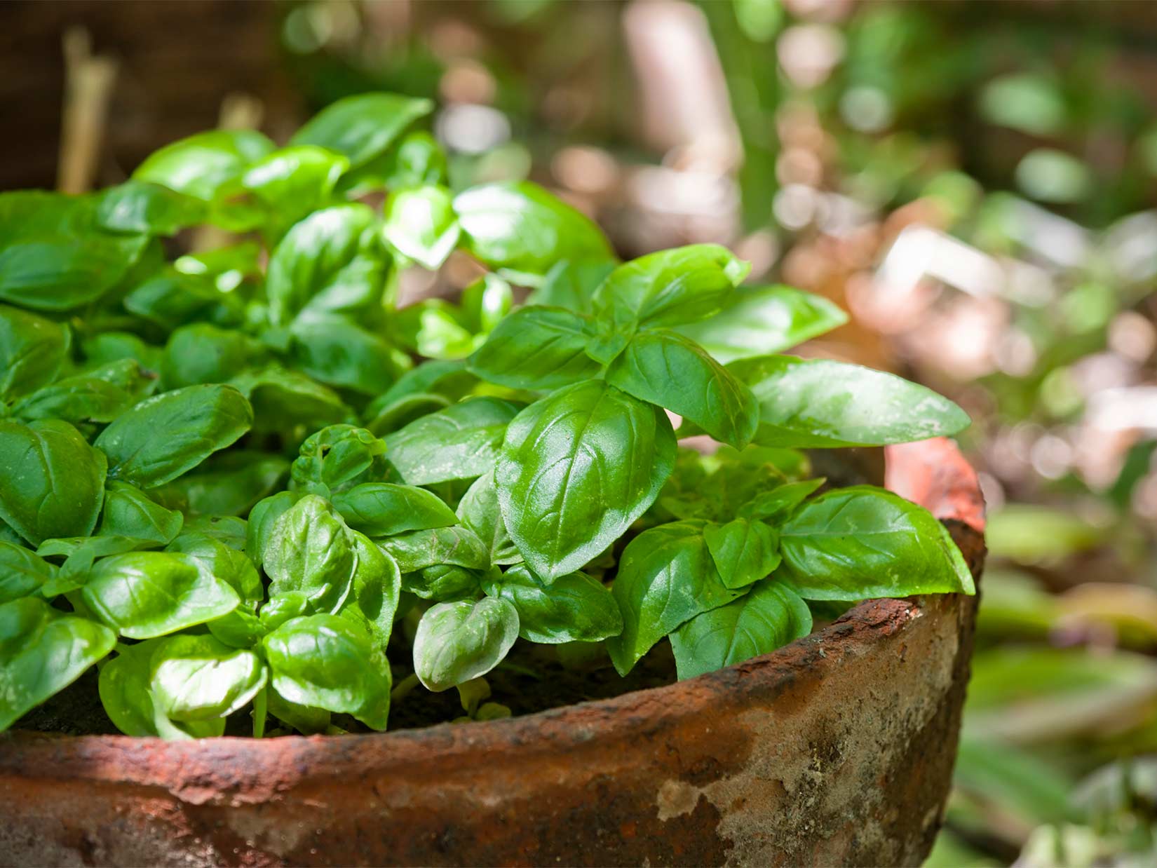
<instances>
[{"instance_id":1,"label":"whole bushy green basil plant growing in the terracotta pot","mask_svg":"<svg viewBox=\"0 0 1157 868\"><path fill-rule=\"evenodd\" d=\"M283 147L207 132L0 196L0 729L94 665L134 736L382 730L419 683L494 716L519 641L625 675L665 639L691 677L832 601L973 593L924 509L802 451L956 405L780 354L843 315L722 247L620 263L531 183L454 190L430 110L369 94ZM174 258L198 227L233 242ZM451 253L482 277L397 304Z\"/></svg>"}]
</instances>

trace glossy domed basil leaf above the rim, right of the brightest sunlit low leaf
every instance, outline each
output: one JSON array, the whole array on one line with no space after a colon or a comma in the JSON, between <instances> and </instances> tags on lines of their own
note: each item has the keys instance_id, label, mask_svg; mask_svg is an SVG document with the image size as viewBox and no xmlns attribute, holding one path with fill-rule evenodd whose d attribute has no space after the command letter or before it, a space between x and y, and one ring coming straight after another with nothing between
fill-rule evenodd
<instances>
[{"instance_id":1,"label":"glossy domed basil leaf above the rim, right of the brightest sunlit low leaf","mask_svg":"<svg viewBox=\"0 0 1157 868\"><path fill-rule=\"evenodd\" d=\"M390 667L354 621L336 615L294 618L265 637L261 647L270 683L283 698L346 712L371 729L385 729Z\"/></svg>"}]
</instances>

